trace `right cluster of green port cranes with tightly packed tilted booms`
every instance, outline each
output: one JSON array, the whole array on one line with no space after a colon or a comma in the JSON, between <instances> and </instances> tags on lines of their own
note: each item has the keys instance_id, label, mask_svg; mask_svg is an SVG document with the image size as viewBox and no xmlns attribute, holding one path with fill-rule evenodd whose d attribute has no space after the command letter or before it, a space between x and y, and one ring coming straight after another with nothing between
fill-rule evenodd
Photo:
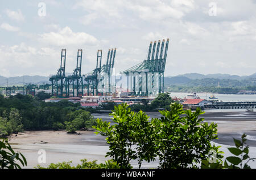
<instances>
[{"instance_id":1,"label":"right cluster of green port cranes with tightly packed tilted booms","mask_svg":"<svg viewBox=\"0 0 256 180\"><path fill-rule=\"evenodd\" d=\"M126 71L127 87L134 96L157 95L164 91L164 69L166 66L169 39L156 46L156 41L148 49L147 59ZM151 51L152 50L152 51ZM160 50L160 54L159 54Z\"/></svg>"}]
</instances>

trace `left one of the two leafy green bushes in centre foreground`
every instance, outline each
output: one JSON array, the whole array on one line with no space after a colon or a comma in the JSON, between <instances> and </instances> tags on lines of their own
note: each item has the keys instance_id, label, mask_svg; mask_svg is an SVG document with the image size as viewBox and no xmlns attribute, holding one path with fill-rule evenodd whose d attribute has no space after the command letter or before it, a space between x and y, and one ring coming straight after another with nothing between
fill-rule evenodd
<instances>
[{"instance_id":1,"label":"left one of the two leafy green bushes in centre foreground","mask_svg":"<svg viewBox=\"0 0 256 180\"><path fill-rule=\"evenodd\" d=\"M143 160L155 159L153 135L148 116L142 111L131 112L127 104L115 106L113 113L114 125L97 119L96 134L106 136L110 156L121 168L131 168L130 161L138 158L139 167ZM134 149L134 148L135 149Z\"/></svg>"}]
</instances>

